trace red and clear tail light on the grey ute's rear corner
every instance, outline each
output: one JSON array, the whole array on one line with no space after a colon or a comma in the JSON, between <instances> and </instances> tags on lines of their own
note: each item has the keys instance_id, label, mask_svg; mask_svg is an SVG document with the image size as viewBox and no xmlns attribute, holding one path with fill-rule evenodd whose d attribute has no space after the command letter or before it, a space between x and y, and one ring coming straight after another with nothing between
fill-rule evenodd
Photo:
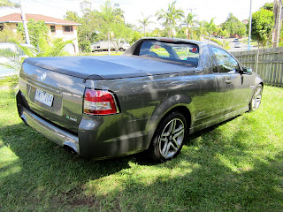
<instances>
[{"instance_id":1,"label":"red and clear tail light on the grey ute's rear corner","mask_svg":"<svg viewBox=\"0 0 283 212\"><path fill-rule=\"evenodd\" d=\"M105 90L86 89L84 113L90 115L110 115L119 113L114 95Z\"/></svg>"}]
</instances>

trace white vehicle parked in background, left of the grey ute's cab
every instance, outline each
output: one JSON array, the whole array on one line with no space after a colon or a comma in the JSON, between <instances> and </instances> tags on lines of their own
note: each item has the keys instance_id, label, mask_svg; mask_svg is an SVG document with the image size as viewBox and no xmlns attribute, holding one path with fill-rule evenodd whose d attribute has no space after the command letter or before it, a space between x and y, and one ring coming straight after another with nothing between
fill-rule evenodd
<instances>
[{"instance_id":1,"label":"white vehicle parked in background, left of the grey ute's cab","mask_svg":"<svg viewBox=\"0 0 283 212\"><path fill-rule=\"evenodd\" d=\"M123 40L113 40L110 42L110 49L111 50L119 50L125 51L126 49L130 48L130 44ZM108 42L96 42L90 45L91 51L106 51L108 50Z\"/></svg>"}]
</instances>

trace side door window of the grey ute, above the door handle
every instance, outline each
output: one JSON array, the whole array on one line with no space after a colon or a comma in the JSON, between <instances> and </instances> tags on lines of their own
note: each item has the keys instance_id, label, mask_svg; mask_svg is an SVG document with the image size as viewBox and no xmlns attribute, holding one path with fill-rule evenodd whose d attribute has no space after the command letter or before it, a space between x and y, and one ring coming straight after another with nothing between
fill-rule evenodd
<instances>
[{"instance_id":1,"label":"side door window of the grey ute, above the door handle","mask_svg":"<svg viewBox=\"0 0 283 212\"><path fill-rule=\"evenodd\" d=\"M218 62L218 72L231 72L239 69L238 62L226 53L226 51L213 47L211 50Z\"/></svg>"}]
</instances>

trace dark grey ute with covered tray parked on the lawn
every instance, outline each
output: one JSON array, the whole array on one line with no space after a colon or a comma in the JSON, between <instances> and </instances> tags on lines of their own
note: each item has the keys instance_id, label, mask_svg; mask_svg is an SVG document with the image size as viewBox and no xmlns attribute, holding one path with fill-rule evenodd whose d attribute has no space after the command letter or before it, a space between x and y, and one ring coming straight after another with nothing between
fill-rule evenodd
<instances>
[{"instance_id":1,"label":"dark grey ute with covered tray parked on the lawn","mask_svg":"<svg viewBox=\"0 0 283 212\"><path fill-rule=\"evenodd\" d=\"M122 56L27 58L17 106L27 125L79 155L148 150L163 162L189 134L257 110L263 87L218 46L145 38Z\"/></svg>"}]
</instances>

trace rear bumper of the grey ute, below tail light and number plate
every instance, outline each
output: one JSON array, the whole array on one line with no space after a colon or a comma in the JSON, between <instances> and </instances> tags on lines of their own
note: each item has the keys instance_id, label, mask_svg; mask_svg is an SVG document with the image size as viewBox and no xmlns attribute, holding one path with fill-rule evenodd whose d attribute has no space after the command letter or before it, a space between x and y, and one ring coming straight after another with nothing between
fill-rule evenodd
<instances>
[{"instance_id":1,"label":"rear bumper of the grey ute, below tail light and number plate","mask_svg":"<svg viewBox=\"0 0 283 212\"><path fill-rule=\"evenodd\" d=\"M68 146L81 156L108 158L118 155L130 155L141 152L149 147L148 134L136 131L141 123L127 123L122 114L113 116L83 115L78 133L72 133L54 123L38 116L30 110L21 92L17 94L19 117L35 131L59 146ZM125 132L130 126L135 126L131 132ZM123 128L124 127L124 128Z\"/></svg>"}]
</instances>

